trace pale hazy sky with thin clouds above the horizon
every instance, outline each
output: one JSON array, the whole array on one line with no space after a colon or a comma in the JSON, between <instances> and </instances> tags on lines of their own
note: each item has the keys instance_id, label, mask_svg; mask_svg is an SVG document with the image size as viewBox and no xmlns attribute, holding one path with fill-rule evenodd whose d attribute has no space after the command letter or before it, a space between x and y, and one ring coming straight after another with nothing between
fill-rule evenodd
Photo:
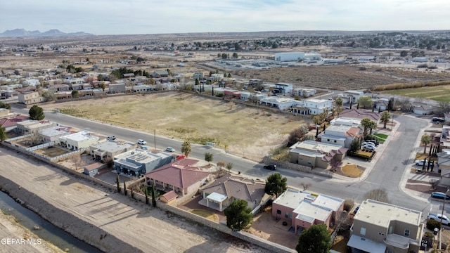
<instances>
[{"instance_id":1,"label":"pale hazy sky with thin clouds above the horizon","mask_svg":"<svg viewBox=\"0 0 450 253\"><path fill-rule=\"evenodd\" d=\"M1 0L0 32L450 30L449 0Z\"/></svg>"}]
</instances>

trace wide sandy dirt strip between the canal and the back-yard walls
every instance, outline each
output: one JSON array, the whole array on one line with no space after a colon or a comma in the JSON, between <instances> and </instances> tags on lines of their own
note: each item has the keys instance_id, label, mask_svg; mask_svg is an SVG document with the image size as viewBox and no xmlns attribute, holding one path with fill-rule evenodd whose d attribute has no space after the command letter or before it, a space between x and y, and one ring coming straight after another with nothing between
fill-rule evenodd
<instances>
[{"instance_id":1,"label":"wide sandy dirt strip between the canal and the back-yard walls","mask_svg":"<svg viewBox=\"0 0 450 253\"><path fill-rule=\"evenodd\" d=\"M93 183L80 183L48 164L5 148L0 148L0 164L8 164L8 167L0 167L4 180L20 186L11 189L11 194L27 197L23 201L30 206L39 207L41 199L72 214L56 216L60 212L48 206L38 210L44 216L58 220L70 233L91 244L103 245L107 252L266 252L182 217L141 202L130 202L128 197ZM4 188L7 186L8 183L2 184ZM21 190L32 194L22 194ZM91 225L79 226L79 220ZM102 234L98 234L99 230ZM118 238L128 246L118 243Z\"/></svg>"}]
</instances>

